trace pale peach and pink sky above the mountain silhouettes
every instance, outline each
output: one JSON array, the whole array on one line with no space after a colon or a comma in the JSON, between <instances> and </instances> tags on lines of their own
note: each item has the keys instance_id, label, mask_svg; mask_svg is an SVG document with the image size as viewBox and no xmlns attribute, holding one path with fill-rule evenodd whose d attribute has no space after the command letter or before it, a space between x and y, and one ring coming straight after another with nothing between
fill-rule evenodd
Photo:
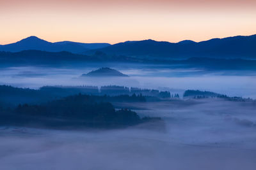
<instances>
[{"instance_id":1,"label":"pale peach and pink sky above the mountain silhouettes","mask_svg":"<svg viewBox=\"0 0 256 170\"><path fill-rule=\"evenodd\" d=\"M256 34L255 0L0 0L0 45L47 41L179 42Z\"/></svg>"}]
</instances>

